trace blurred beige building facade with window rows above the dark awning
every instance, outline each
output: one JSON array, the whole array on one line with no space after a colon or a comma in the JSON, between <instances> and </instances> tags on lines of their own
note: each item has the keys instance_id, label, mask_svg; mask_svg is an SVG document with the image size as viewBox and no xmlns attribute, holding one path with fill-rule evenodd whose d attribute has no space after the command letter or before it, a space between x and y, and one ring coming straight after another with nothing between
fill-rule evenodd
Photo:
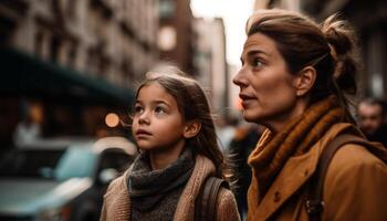
<instances>
[{"instance_id":1,"label":"blurred beige building facade with window rows above the dark awning","mask_svg":"<svg viewBox=\"0 0 387 221\"><path fill-rule=\"evenodd\" d=\"M124 87L158 59L156 0L3 1L0 17L3 44Z\"/></svg>"}]
</instances>

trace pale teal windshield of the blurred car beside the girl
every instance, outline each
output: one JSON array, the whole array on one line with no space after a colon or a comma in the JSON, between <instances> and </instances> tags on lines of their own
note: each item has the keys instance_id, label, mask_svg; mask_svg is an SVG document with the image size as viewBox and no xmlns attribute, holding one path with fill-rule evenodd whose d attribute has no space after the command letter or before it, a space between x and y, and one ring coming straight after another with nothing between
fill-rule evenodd
<instances>
[{"instance_id":1,"label":"pale teal windshield of the blurred car beside the girl","mask_svg":"<svg viewBox=\"0 0 387 221\"><path fill-rule=\"evenodd\" d=\"M96 168L96 154L90 148L69 148L60 159L55 170L57 180L73 177L93 177Z\"/></svg>"}]
</instances>

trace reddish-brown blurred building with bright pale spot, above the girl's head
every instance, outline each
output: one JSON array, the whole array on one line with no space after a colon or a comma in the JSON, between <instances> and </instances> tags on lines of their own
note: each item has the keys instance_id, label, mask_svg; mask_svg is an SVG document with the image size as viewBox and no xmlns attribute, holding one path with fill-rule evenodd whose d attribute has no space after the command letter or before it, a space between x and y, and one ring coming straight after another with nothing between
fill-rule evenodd
<instances>
[{"instance_id":1,"label":"reddish-brown blurred building with bright pale spot, above the girl's head","mask_svg":"<svg viewBox=\"0 0 387 221\"><path fill-rule=\"evenodd\" d=\"M192 19L189 0L159 0L159 59L190 74L196 73Z\"/></svg>"}]
</instances>

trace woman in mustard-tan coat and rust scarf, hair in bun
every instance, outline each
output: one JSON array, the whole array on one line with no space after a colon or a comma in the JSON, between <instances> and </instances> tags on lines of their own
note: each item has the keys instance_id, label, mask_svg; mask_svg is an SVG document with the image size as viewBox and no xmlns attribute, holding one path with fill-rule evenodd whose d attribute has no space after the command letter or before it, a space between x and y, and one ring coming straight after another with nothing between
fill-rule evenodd
<instances>
[{"instance_id":1,"label":"woman in mustard-tan coat and rust scarf, hair in bun","mask_svg":"<svg viewBox=\"0 0 387 221\"><path fill-rule=\"evenodd\" d=\"M247 35L233 83L240 87L243 117L268 128L249 157L248 220L310 220L307 183L322 150L341 134L362 136L346 99L356 93L353 32L334 15L318 25L274 9L257 11ZM337 150L318 218L387 220L381 148L345 144Z\"/></svg>"}]
</instances>

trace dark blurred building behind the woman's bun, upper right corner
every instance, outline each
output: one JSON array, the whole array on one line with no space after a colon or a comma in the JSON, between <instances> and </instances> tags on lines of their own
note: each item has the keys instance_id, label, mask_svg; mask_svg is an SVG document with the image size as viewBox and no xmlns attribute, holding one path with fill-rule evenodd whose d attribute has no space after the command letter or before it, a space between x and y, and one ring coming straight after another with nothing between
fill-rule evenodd
<instances>
[{"instance_id":1,"label":"dark blurred building behind the woman's bun, upper right corner","mask_svg":"<svg viewBox=\"0 0 387 221\"><path fill-rule=\"evenodd\" d=\"M263 2L263 3L262 3ZM266 0L255 9L283 8L301 11L317 21L339 13L355 28L360 44L363 70L358 76L362 95L387 98L387 2L383 0Z\"/></svg>"}]
</instances>

